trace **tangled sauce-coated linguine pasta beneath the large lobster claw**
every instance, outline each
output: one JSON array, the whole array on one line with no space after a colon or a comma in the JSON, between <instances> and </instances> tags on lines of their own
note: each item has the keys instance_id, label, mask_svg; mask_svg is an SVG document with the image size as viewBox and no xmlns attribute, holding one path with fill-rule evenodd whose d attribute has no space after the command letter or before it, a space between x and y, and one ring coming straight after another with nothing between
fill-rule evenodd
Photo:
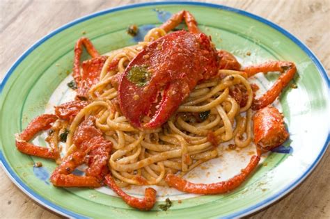
<instances>
[{"instance_id":1,"label":"tangled sauce-coated linguine pasta beneath the large lobster claw","mask_svg":"<svg viewBox=\"0 0 330 219\"><path fill-rule=\"evenodd\" d=\"M167 172L189 172L197 165L218 156L217 148L207 138L219 136L220 141L235 139L238 147L251 143L251 103L253 92L246 75L233 70L219 70L223 79L213 79L199 84L189 98L180 106L178 113L161 128L141 131L132 127L117 110L117 90L111 85L111 77L123 73L129 61L148 44L165 35L162 29L148 32L145 42L125 47L107 54L100 81L89 90L91 104L83 108L70 124L66 145L72 150L72 136L79 122L88 115L97 117L95 124L113 143L109 166L113 176L122 185L165 185ZM109 63L119 60L116 70L107 71ZM242 83L248 91L246 106L230 97L230 86ZM198 122L199 113L210 115ZM241 115L245 113L246 115ZM195 117L194 117L195 115ZM235 124L239 124L236 126ZM242 137L246 136L245 140Z\"/></svg>"}]
</instances>

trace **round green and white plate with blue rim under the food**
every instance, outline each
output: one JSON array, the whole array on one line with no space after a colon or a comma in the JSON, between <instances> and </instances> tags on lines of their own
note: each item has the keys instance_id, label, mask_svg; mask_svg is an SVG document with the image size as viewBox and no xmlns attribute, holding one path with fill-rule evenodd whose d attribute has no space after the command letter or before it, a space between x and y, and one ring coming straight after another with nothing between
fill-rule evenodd
<instances>
[{"instance_id":1,"label":"round green and white plate with blue rim under the food","mask_svg":"<svg viewBox=\"0 0 330 219\"><path fill-rule=\"evenodd\" d=\"M90 38L104 54L135 44L153 26L179 10L189 10L218 48L233 52L244 63L291 60L299 75L297 89L287 88L279 99L290 140L272 152L246 183L226 195L187 197L173 201L168 211L157 202L150 212L136 211L102 190L55 188L49 174L56 165L21 154L14 134L49 108L52 93L72 70L74 43ZM139 35L126 33L137 24ZM88 58L87 56L83 58ZM269 74L262 85L276 80ZM33 200L63 216L79 218L219 218L242 217L272 204L298 186L315 168L329 144L329 78L315 55L297 38L272 22L235 8L197 2L140 3L88 15L46 35L10 68L0 92L0 158L10 179ZM65 97L65 95L63 95ZM328 122L327 122L328 121ZM42 142L42 138L38 138ZM42 161L42 168L33 163ZM164 197L163 197L164 198ZM159 197L162 200L162 197Z\"/></svg>"}]
</instances>

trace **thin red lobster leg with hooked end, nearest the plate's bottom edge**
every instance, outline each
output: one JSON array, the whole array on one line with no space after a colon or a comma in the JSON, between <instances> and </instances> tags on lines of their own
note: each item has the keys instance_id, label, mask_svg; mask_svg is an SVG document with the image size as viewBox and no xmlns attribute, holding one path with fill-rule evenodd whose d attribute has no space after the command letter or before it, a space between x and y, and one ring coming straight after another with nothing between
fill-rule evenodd
<instances>
[{"instance_id":1,"label":"thin red lobster leg with hooked end, nearest the plate's bottom edge","mask_svg":"<svg viewBox=\"0 0 330 219\"><path fill-rule=\"evenodd\" d=\"M127 195L119 186L116 185L116 182L112 179L111 175L105 177L105 183L123 200L135 209L141 211L149 211L155 205L156 202L156 190L153 188L146 188L145 197L143 199L132 197Z\"/></svg>"}]
</instances>

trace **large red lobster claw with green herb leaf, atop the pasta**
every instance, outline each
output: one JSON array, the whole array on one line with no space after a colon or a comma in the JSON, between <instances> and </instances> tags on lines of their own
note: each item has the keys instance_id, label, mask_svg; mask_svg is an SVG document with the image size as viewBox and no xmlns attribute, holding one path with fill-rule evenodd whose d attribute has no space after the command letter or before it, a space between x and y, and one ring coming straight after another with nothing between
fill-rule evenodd
<instances>
[{"instance_id":1,"label":"large red lobster claw with green herb leaf, atop the pasta","mask_svg":"<svg viewBox=\"0 0 330 219\"><path fill-rule=\"evenodd\" d=\"M175 31L148 44L129 63L120 78L118 100L134 127L160 127L205 78L205 72L217 72L217 53L208 40L203 33Z\"/></svg>"}]
</instances>

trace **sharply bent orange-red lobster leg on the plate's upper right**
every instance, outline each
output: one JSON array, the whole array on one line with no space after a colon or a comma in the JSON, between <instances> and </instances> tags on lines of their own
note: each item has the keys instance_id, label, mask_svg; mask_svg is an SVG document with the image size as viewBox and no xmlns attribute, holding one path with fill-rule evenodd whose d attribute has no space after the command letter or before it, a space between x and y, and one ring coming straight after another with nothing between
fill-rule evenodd
<instances>
[{"instance_id":1,"label":"sharply bent orange-red lobster leg on the plate's upper right","mask_svg":"<svg viewBox=\"0 0 330 219\"><path fill-rule=\"evenodd\" d=\"M281 94L281 91L285 86L288 86L288 83L293 79L294 74L297 72L297 68L294 63L285 62L285 61L272 61L263 63L261 65L252 65L245 67L244 72L248 76L253 76L258 72L281 72L281 76L278 77L277 81L274 83L272 88L267 90L262 97L258 99L253 99L251 108L253 110L258 110L264 108L265 106L272 104L274 100Z\"/></svg>"}]
</instances>

